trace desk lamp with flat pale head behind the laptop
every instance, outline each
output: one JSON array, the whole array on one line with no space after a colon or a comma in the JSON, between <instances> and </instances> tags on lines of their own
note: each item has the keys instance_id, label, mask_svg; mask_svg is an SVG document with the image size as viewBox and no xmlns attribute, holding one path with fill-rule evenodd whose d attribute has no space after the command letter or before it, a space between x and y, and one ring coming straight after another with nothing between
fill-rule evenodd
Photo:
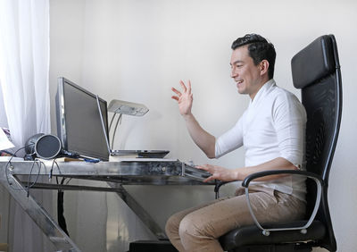
<instances>
[{"instance_id":1,"label":"desk lamp with flat pale head behind the laptop","mask_svg":"<svg viewBox=\"0 0 357 252\"><path fill-rule=\"evenodd\" d=\"M112 116L112 120L111 120L111 123L109 124L108 131L110 131L112 128L112 122L114 120L115 115L117 113L119 113L119 117L115 124L114 132L112 133L112 147L114 145L115 132L117 130L118 123L121 122L122 114L143 116L148 111L149 111L149 109L145 105L142 105L142 104L130 103L130 102L120 101L120 100L112 100L108 105L108 112L112 112L112 113L114 113L114 115Z\"/></svg>"}]
</instances>

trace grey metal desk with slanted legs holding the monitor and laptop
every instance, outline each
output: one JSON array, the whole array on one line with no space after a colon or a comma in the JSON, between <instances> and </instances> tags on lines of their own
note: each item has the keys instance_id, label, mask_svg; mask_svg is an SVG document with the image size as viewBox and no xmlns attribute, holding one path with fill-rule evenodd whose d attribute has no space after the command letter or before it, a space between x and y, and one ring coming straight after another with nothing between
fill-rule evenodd
<instances>
[{"instance_id":1,"label":"grey metal desk with slanted legs holding the monitor and laptop","mask_svg":"<svg viewBox=\"0 0 357 252\"><path fill-rule=\"evenodd\" d=\"M87 187L77 185L62 185L56 183L35 183L31 189L70 189L116 192L121 199L134 211L143 223L154 233L157 239L165 239L164 231L145 209L131 197L123 185L207 185L203 179L208 173L194 167L169 159L127 159L120 162L100 162L97 164L85 162L57 162L58 167L51 167L53 161L0 162L0 183L9 191L23 210L29 214L37 226L54 244L58 251L80 251L71 238L62 231L52 216L40 206L36 198L24 189L27 183L19 179L19 175L48 177L50 172L54 177L76 178L80 180L107 181L109 187ZM6 172L7 169L7 172ZM52 180L55 181L55 180Z\"/></svg>"}]
</instances>

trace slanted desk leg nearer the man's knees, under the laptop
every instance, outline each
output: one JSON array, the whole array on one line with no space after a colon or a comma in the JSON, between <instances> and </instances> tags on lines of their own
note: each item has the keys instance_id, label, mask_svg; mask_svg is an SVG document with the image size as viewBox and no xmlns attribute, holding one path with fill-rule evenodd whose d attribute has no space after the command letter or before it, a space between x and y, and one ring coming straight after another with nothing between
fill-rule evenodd
<instances>
[{"instance_id":1,"label":"slanted desk leg nearer the man's knees, under the laptop","mask_svg":"<svg viewBox=\"0 0 357 252\"><path fill-rule=\"evenodd\" d=\"M167 239L167 236L160 226L154 222L153 218L147 214L145 209L140 206L137 201L131 197L126 189L124 189L120 184L114 182L108 182L109 186L112 188L120 189L117 191L119 197L129 206L129 208L137 214L137 217L145 224L145 226L154 233L157 239Z\"/></svg>"}]
</instances>

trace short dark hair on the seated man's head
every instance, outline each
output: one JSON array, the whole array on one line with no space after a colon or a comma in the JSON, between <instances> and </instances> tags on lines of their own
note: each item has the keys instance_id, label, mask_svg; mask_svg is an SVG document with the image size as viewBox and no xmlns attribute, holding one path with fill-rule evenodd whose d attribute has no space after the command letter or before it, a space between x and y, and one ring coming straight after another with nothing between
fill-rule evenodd
<instances>
[{"instance_id":1,"label":"short dark hair on the seated man's head","mask_svg":"<svg viewBox=\"0 0 357 252\"><path fill-rule=\"evenodd\" d=\"M253 59L255 65L267 60L269 62L268 76L274 77L274 64L277 54L273 44L258 34L246 34L245 37L237 38L232 44L232 49L236 50L240 46L248 45L249 56Z\"/></svg>"}]
</instances>

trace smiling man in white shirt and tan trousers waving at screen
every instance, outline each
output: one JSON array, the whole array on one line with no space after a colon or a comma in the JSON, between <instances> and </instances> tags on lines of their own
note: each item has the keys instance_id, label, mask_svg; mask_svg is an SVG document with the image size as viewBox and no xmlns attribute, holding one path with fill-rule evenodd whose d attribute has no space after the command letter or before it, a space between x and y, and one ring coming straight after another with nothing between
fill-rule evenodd
<instances>
[{"instance_id":1,"label":"smiling man in white shirt and tan trousers waving at screen","mask_svg":"<svg viewBox=\"0 0 357 252\"><path fill-rule=\"evenodd\" d=\"M209 158L219 158L237 147L245 147L245 167L227 169L217 165L196 166L212 175L205 181L242 181L254 172L303 169L306 113L303 105L273 80L275 49L260 35L248 34L232 45L231 77L238 93L251 102L237 124L216 139L203 130L191 113L191 83L181 80L182 91L172 88L179 113L195 144ZM253 211L260 223L284 222L303 217L305 185L296 176L274 175L249 188ZM166 232L179 251L223 251L218 238L239 226L253 223L244 190L235 197L184 210L170 217Z\"/></svg>"}]
</instances>

